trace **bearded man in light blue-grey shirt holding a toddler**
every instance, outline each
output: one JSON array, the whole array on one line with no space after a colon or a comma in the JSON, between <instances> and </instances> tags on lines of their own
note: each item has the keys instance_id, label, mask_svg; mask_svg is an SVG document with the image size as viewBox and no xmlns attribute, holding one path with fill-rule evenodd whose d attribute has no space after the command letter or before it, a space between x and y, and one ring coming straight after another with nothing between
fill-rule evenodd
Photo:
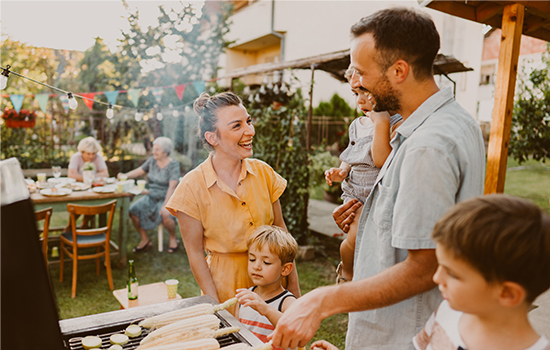
<instances>
[{"instance_id":1,"label":"bearded man in light blue-grey shirt holding a toddler","mask_svg":"<svg viewBox=\"0 0 551 351\"><path fill-rule=\"evenodd\" d=\"M366 88L377 111L396 111L404 123L359 219L353 282L298 299L272 334L282 348L306 345L324 318L343 312L353 312L347 349L413 348L412 337L441 301L432 281L432 228L455 203L483 192L482 133L434 81L440 37L430 17L385 9L351 32L352 88ZM350 201L333 214L344 231L359 206Z\"/></svg>"}]
</instances>

